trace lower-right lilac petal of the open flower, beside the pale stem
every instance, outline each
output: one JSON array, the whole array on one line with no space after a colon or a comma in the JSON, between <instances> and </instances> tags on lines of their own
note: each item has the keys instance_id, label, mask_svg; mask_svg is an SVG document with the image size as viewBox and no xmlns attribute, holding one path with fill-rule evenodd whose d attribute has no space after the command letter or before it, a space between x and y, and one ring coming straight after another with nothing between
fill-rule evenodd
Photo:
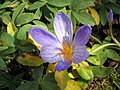
<instances>
[{"instance_id":1,"label":"lower-right lilac petal of the open flower, beside the pale stem","mask_svg":"<svg viewBox=\"0 0 120 90\"><path fill-rule=\"evenodd\" d=\"M88 57L89 57L89 53L84 46L74 47L74 53L72 55L72 58L75 59L73 60L74 63L78 64L83 60L86 60Z\"/></svg>"}]
</instances>

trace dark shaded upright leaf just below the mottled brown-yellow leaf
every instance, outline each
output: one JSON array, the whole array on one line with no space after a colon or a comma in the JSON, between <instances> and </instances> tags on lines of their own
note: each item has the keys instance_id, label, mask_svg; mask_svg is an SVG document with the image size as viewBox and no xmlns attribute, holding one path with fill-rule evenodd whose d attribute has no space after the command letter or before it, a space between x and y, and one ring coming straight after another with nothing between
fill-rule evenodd
<instances>
[{"instance_id":1,"label":"dark shaded upright leaf just below the mottled brown-yellow leaf","mask_svg":"<svg viewBox=\"0 0 120 90\"><path fill-rule=\"evenodd\" d=\"M34 69L34 71L33 71L34 80L38 80L38 81L41 80L42 75L43 75L43 69L44 69L43 65Z\"/></svg>"}]
</instances>

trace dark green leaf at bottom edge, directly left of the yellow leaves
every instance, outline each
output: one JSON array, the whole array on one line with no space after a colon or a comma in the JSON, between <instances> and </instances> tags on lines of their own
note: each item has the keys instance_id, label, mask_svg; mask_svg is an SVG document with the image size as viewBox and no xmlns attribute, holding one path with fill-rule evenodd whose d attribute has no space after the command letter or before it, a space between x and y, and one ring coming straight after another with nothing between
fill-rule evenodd
<instances>
[{"instance_id":1,"label":"dark green leaf at bottom edge, directly left of the yellow leaves","mask_svg":"<svg viewBox=\"0 0 120 90\"><path fill-rule=\"evenodd\" d=\"M50 81L42 81L40 86L42 90L60 90L56 83Z\"/></svg>"}]
</instances>

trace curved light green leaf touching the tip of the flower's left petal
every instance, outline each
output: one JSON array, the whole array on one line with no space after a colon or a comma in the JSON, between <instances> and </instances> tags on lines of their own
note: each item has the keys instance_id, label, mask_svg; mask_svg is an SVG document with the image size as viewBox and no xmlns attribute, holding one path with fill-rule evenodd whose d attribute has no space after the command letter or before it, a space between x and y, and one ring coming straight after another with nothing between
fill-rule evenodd
<instances>
[{"instance_id":1,"label":"curved light green leaf touching the tip of the flower's left petal","mask_svg":"<svg viewBox=\"0 0 120 90\"><path fill-rule=\"evenodd\" d=\"M23 27L21 27L17 33L17 38L19 40L26 40L27 39L27 32L30 30L31 27L32 27L31 24L26 24ZM22 37L21 37L21 35L22 35Z\"/></svg>"}]
</instances>

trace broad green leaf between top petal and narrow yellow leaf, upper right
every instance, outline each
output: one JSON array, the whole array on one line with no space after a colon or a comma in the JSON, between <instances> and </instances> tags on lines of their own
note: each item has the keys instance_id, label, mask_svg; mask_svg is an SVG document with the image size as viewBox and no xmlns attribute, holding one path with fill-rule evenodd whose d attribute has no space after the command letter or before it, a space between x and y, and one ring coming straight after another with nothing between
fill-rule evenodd
<instances>
[{"instance_id":1,"label":"broad green leaf between top petal and narrow yellow leaf, upper right","mask_svg":"<svg viewBox=\"0 0 120 90\"><path fill-rule=\"evenodd\" d=\"M73 11L73 16L77 19L79 23L90 24L91 26L95 25L95 21L92 16L85 11L81 11L79 13Z\"/></svg>"}]
</instances>

